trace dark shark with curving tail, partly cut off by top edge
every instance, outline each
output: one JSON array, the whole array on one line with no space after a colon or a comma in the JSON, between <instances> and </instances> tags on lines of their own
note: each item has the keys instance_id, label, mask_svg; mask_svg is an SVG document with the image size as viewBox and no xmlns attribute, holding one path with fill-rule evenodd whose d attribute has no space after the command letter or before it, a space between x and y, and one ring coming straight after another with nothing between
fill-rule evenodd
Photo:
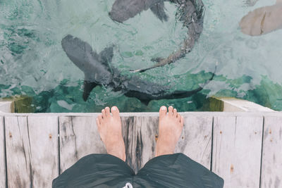
<instances>
[{"instance_id":1,"label":"dark shark with curving tail, partly cut off by top edge","mask_svg":"<svg viewBox=\"0 0 282 188\"><path fill-rule=\"evenodd\" d=\"M149 68L134 70L135 73L178 61L192 50L202 33L204 22L204 4L202 0L116 0L109 15L112 20L123 23L129 18L133 18L137 13L150 8L157 15L157 18L161 21L167 21L168 15L165 12L164 1L171 1L178 6L176 16L179 17L184 27L188 27L188 37L181 44L182 46L178 51L167 58L153 58L152 61L157 61L157 64Z\"/></svg>"}]
</instances>

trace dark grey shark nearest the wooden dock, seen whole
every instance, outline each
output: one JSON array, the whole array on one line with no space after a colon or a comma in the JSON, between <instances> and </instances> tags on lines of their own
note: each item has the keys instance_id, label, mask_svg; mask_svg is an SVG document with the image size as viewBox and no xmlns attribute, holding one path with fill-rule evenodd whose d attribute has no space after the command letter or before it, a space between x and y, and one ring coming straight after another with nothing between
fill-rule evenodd
<instances>
[{"instance_id":1,"label":"dark grey shark nearest the wooden dock, seen whole","mask_svg":"<svg viewBox=\"0 0 282 188\"><path fill-rule=\"evenodd\" d=\"M126 77L114 68L110 63L114 56L113 46L105 48L97 54L90 44L83 42L77 37L67 35L61 41L63 50L68 58L85 74L83 99L87 101L90 92L97 85L111 87L115 92L121 91L125 96L140 99L143 104L158 99L181 99L200 92L205 84L208 84L212 77L202 87L191 91L179 90L170 91L170 87L142 80L133 75Z\"/></svg>"}]
</instances>

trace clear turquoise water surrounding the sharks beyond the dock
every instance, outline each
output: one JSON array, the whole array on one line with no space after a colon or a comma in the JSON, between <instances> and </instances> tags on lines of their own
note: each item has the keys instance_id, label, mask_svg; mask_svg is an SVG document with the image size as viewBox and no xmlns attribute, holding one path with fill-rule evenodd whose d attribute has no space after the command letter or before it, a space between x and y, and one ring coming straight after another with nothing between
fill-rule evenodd
<instances>
[{"instance_id":1,"label":"clear turquoise water surrounding the sharks beyond the dock","mask_svg":"<svg viewBox=\"0 0 282 188\"><path fill-rule=\"evenodd\" d=\"M208 96L233 96L282 111L282 30L250 37L240 32L240 19L275 1L204 0L204 31L192 52L176 63L137 73L144 80L171 86L171 91L195 89L216 76L204 90L186 99L151 101L96 87L82 100L84 75L61 49L61 39L74 35L98 52L115 44L111 62L124 75L145 68L152 57L179 48L187 28L176 19L176 6L165 3L167 23L151 11L114 23L114 0L0 0L0 97L33 97L37 112L99 112L116 105L123 112L158 111L173 105L178 111L201 111Z\"/></svg>"}]
</instances>

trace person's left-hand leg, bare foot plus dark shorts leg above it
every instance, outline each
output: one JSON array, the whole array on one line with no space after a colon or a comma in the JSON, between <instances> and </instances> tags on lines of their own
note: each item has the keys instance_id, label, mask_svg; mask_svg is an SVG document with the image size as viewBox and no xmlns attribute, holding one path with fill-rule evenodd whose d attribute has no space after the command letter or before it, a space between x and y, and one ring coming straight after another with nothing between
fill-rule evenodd
<instances>
[{"instance_id":1,"label":"person's left-hand leg, bare foot plus dark shorts leg above it","mask_svg":"<svg viewBox=\"0 0 282 188\"><path fill-rule=\"evenodd\" d=\"M112 115L111 115L112 113ZM108 154L92 154L53 180L53 188L124 187L133 184L134 171L125 163L125 146L121 135L121 118L116 106L102 110L97 127Z\"/></svg>"}]
</instances>

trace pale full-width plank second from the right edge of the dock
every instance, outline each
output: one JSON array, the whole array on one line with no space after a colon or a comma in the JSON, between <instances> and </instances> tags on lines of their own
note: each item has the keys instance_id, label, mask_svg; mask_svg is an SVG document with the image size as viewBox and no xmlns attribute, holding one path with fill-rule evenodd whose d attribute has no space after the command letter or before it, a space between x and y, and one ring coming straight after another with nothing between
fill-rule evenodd
<instances>
[{"instance_id":1,"label":"pale full-width plank second from the right edge of the dock","mask_svg":"<svg viewBox=\"0 0 282 188\"><path fill-rule=\"evenodd\" d=\"M259 187L262 117L214 117L212 171L225 187Z\"/></svg>"}]
</instances>

